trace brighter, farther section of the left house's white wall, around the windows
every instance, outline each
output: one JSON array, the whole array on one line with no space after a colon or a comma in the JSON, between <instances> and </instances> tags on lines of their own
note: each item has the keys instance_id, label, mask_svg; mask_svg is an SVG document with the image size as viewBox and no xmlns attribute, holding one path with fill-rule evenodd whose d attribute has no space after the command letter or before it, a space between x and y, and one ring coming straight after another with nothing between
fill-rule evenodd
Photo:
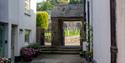
<instances>
[{"instance_id":1,"label":"brighter, farther section of the left house's white wall, around the windows","mask_svg":"<svg viewBox=\"0 0 125 63\"><path fill-rule=\"evenodd\" d=\"M24 0L19 1L19 30L18 31L18 44L16 45L18 49L16 50L16 56L20 55L20 49L25 46L25 30L31 30L30 43L36 42L36 0L31 0L30 2L30 16L24 14Z\"/></svg>"}]
</instances>

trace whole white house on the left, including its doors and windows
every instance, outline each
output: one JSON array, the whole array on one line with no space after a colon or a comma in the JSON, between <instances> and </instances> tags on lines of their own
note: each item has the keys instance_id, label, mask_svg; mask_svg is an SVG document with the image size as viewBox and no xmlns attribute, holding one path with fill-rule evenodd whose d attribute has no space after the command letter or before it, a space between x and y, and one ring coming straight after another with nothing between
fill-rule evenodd
<instances>
[{"instance_id":1,"label":"whole white house on the left, including its doors and windows","mask_svg":"<svg viewBox=\"0 0 125 63\"><path fill-rule=\"evenodd\" d=\"M0 0L0 57L20 56L36 42L36 0Z\"/></svg>"}]
</instances>

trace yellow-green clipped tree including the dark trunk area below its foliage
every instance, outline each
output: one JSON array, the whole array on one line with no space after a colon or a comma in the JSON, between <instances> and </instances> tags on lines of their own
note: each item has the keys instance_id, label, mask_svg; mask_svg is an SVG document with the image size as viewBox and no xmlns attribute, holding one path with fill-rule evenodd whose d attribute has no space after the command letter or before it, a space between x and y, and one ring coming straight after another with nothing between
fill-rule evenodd
<instances>
[{"instance_id":1,"label":"yellow-green clipped tree including the dark trunk area below its foliage","mask_svg":"<svg viewBox=\"0 0 125 63\"><path fill-rule=\"evenodd\" d=\"M37 32L40 32L39 34L37 34L37 37L40 44L45 45L44 33L45 30L48 29L48 13L45 11L37 12L36 17Z\"/></svg>"}]
</instances>

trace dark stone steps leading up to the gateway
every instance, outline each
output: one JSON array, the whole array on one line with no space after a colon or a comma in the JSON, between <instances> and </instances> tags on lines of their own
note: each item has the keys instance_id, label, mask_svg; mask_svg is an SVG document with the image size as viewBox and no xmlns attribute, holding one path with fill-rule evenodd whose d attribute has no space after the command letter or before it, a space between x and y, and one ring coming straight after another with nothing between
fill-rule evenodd
<instances>
[{"instance_id":1,"label":"dark stone steps leading up to the gateway","mask_svg":"<svg viewBox=\"0 0 125 63\"><path fill-rule=\"evenodd\" d=\"M79 54L80 47L42 47L41 53L43 54Z\"/></svg>"}]
</instances>

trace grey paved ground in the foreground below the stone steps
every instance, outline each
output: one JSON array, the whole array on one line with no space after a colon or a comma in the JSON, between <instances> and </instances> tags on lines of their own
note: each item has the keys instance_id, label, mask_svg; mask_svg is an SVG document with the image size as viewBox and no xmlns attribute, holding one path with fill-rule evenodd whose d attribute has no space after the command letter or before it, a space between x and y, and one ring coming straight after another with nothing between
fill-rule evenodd
<instances>
[{"instance_id":1,"label":"grey paved ground in the foreground below the stone steps","mask_svg":"<svg viewBox=\"0 0 125 63\"><path fill-rule=\"evenodd\" d=\"M28 62L21 62L28 63ZM79 55L44 54L29 63L83 63Z\"/></svg>"}]
</instances>

